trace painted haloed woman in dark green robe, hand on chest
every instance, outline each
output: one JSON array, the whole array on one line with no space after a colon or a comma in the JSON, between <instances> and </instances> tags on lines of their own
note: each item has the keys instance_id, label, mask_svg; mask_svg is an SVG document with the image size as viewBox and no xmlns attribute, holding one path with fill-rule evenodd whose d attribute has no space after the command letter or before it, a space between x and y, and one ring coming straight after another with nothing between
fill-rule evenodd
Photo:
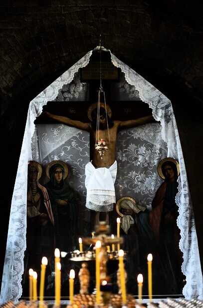
<instances>
[{"instance_id":1,"label":"painted haloed woman in dark green robe, hand on chest","mask_svg":"<svg viewBox=\"0 0 203 308\"><path fill-rule=\"evenodd\" d=\"M45 186L55 221L56 246L70 251L77 245L77 199L75 191L64 181L68 167L65 162L54 160L47 165L46 174L50 179Z\"/></svg>"}]
</instances>

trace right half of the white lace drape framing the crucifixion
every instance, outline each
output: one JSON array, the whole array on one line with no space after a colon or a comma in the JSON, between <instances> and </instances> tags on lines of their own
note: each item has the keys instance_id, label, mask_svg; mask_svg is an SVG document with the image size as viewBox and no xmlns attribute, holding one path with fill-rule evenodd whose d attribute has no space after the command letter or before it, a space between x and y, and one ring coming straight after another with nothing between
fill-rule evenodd
<instances>
[{"instance_id":1,"label":"right half of the white lace drape framing the crucifixion","mask_svg":"<svg viewBox=\"0 0 203 308\"><path fill-rule=\"evenodd\" d=\"M186 298L203 298L203 275L194 220L194 212L188 186L186 167L171 101L151 83L120 61L111 53L112 62L125 73L128 83L135 85L140 98L152 108L154 118L161 122L162 137L168 146L168 157L180 163L179 191L176 202L179 206L177 224L181 230L180 249L183 252L182 271L186 275L183 294Z\"/></svg>"}]
</instances>

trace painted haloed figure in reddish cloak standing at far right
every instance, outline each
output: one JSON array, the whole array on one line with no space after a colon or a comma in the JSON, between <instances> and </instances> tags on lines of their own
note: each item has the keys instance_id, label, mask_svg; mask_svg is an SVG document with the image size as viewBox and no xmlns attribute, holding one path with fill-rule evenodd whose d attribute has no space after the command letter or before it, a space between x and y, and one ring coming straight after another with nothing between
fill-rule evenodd
<instances>
[{"instance_id":1,"label":"painted haloed figure in reddish cloak standing at far right","mask_svg":"<svg viewBox=\"0 0 203 308\"><path fill-rule=\"evenodd\" d=\"M172 157L162 159L158 165L158 173L164 179L164 182L156 191L152 201L149 223L154 233L159 259L163 266L162 271L167 276L165 285L170 292L179 293L183 289L185 276L181 270L183 256L179 248L181 235L177 225L179 213L175 199L178 192L177 180L180 174L178 161Z\"/></svg>"}]
</instances>

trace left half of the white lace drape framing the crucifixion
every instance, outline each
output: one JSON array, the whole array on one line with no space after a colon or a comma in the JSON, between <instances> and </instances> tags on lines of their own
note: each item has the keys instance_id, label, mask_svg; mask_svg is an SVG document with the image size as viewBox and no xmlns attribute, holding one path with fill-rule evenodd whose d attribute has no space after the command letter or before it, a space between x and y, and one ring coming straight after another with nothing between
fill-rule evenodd
<instances>
[{"instance_id":1,"label":"left half of the white lace drape framing the crucifixion","mask_svg":"<svg viewBox=\"0 0 203 308\"><path fill-rule=\"evenodd\" d=\"M15 301L22 294L21 279L24 271L24 251L26 249L26 200L27 200L27 161L31 159L31 138L34 133L34 120L42 112L42 107L55 99L58 91L69 83L80 67L88 64L92 51L71 66L47 88L39 93L29 104L22 148L13 189L8 224L8 235L2 275L0 303L9 299Z\"/></svg>"}]
</instances>

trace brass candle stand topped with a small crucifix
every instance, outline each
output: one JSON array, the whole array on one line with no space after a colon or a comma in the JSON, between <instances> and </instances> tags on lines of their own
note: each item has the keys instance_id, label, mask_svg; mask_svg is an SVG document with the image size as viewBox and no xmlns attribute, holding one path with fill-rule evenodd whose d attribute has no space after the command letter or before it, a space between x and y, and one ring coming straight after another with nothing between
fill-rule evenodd
<instances>
[{"instance_id":1,"label":"brass candle stand topped with a small crucifix","mask_svg":"<svg viewBox=\"0 0 203 308\"><path fill-rule=\"evenodd\" d=\"M107 270L107 263L111 261L117 261L118 263L118 251L107 251L107 246L112 246L112 244L122 244L123 237L114 237L107 235L110 232L109 225L105 221L100 221L100 224L95 226L95 236L83 237L82 243L85 245L93 246L98 240L101 241L100 248L100 304L99 306L107 307L114 306L120 308L123 306L120 282L118 282L118 294L112 294L112 283ZM125 254L126 256L126 254ZM124 257L125 257L124 256ZM92 307L96 306L95 293L96 289L92 294L88 294L88 284L90 281L90 272L87 264L91 264L93 261L93 274L95 274L95 251L76 251L71 253L70 260L74 262L81 262L81 269L79 271L80 279L80 294L76 294L73 298L72 304L68 305L68 308L80 308L81 306ZM119 281L120 271L117 271L117 280ZM126 274L126 273L125 273ZM127 274L126 274L127 278ZM132 295L127 295L128 307L135 307L135 299Z\"/></svg>"}]
</instances>

